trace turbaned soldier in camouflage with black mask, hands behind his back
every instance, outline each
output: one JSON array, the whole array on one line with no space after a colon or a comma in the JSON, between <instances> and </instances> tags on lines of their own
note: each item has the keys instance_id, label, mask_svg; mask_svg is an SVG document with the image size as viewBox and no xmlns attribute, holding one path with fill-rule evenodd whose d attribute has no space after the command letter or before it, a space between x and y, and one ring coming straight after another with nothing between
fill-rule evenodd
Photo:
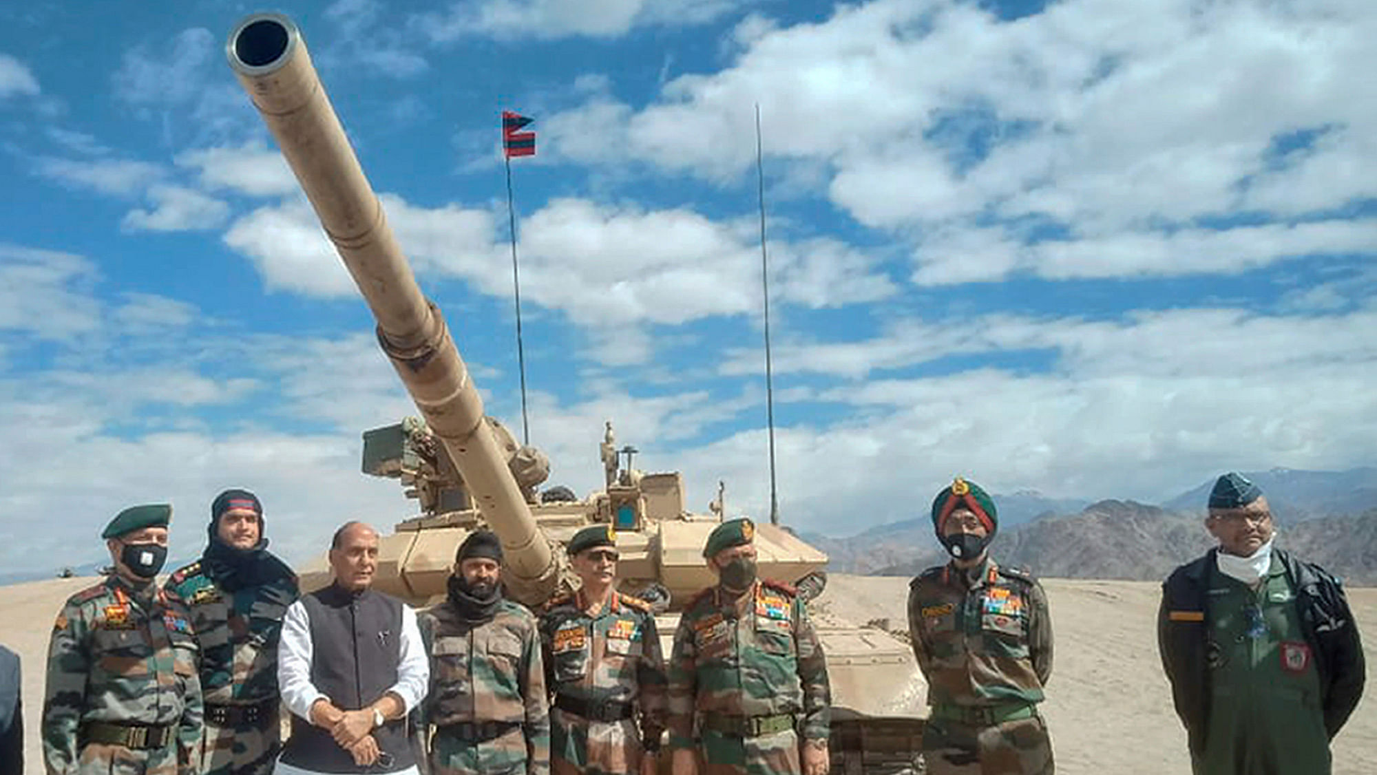
<instances>
[{"instance_id":1,"label":"turbaned soldier in camouflage with black mask, hands behind his back","mask_svg":"<svg viewBox=\"0 0 1377 775\"><path fill-rule=\"evenodd\" d=\"M997 519L975 483L945 487L932 524L953 559L909 586L909 633L932 706L923 732L932 775L1055 771L1037 712L1052 675L1052 619L1031 575L990 559Z\"/></svg>"}]
</instances>

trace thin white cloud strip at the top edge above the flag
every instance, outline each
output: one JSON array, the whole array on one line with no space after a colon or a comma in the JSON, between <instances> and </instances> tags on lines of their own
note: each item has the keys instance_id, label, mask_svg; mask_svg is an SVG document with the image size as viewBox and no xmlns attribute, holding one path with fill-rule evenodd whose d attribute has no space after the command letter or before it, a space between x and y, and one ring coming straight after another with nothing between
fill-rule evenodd
<instances>
[{"instance_id":1,"label":"thin white cloud strip at the top edge above the flag","mask_svg":"<svg viewBox=\"0 0 1377 775\"><path fill-rule=\"evenodd\" d=\"M348 0L353 3L353 0ZM744 0L478 0L421 15L414 26L435 41L464 37L621 37L647 26L697 26L730 14Z\"/></svg>"}]
</instances>

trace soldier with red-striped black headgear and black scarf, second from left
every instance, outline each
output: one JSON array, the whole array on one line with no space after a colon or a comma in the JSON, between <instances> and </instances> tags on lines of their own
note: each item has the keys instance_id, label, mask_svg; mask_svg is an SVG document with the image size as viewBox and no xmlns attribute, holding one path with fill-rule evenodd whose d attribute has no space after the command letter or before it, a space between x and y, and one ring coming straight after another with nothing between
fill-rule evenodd
<instances>
[{"instance_id":1,"label":"soldier with red-striped black headgear and black scarf, second from left","mask_svg":"<svg viewBox=\"0 0 1377 775\"><path fill-rule=\"evenodd\" d=\"M168 578L191 608L201 648L207 775L266 775L282 749L277 644L282 617L300 596L296 574L267 551L263 504L226 490L211 504L200 562Z\"/></svg>"}]
</instances>

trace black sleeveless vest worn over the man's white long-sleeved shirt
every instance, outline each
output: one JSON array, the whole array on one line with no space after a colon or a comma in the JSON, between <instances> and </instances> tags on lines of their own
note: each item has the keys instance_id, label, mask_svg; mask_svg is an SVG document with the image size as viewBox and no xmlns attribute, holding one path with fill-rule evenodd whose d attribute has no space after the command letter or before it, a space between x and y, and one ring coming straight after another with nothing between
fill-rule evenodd
<instances>
[{"instance_id":1,"label":"black sleeveless vest worn over the man's white long-sleeved shirt","mask_svg":"<svg viewBox=\"0 0 1377 775\"><path fill-rule=\"evenodd\" d=\"M341 710L373 703L397 683L402 654L402 602L365 589L355 596L336 585L302 596L311 625L311 683ZM314 772L395 772L416 763L406 736L406 719L373 730L388 767L359 767L322 730L292 714L292 736L282 761Z\"/></svg>"}]
</instances>

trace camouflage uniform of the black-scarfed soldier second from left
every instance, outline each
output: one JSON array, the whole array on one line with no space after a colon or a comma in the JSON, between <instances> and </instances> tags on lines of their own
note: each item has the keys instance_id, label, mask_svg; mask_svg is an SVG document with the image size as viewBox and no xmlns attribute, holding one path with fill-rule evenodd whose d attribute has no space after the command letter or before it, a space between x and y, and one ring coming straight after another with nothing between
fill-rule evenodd
<instances>
[{"instance_id":1,"label":"camouflage uniform of the black-scarfed soldier second from left","mask_svg":"<svg viewBox=\"0 0 1377 775\"><path fill-rule=\"evenodd\" d=\"M282 617L300 596L296 577L230 592L202 563L174 573L169 592L191 610L201 650L205 775L266 775L282 749L277 644Z\"/></svg>"}]
</instances>

